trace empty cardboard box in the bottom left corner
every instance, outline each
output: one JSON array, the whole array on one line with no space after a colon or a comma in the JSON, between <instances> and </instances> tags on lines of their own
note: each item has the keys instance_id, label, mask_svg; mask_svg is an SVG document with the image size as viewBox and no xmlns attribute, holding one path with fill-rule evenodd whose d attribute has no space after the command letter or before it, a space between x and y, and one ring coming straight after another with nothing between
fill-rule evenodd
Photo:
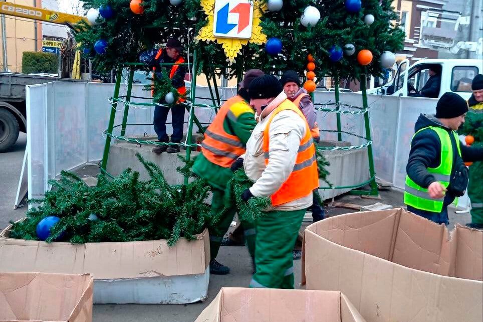
<instances>
[{"instance_id":1,"label":"empty cardboard box in the bottom left corner","mask_svg":"<svg viewBox=\"0 0 483 322\"><path fill-rule=\"evenodd\" d=\"M92 321L89 274L0 273L0 322Z\"/></svg>"}]
</instances>

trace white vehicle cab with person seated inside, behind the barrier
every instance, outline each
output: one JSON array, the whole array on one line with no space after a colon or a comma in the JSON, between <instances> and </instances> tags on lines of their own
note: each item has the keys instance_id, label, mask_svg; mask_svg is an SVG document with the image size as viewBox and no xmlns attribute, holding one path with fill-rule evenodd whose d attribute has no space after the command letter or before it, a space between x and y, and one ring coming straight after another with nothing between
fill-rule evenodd
<instances>
[{"instance_id":1,"label":"white vehicle cab with person seated inside, behind the barrier","mask_svg":"<svg viewBox=\"0 0 483 322\"><path fill-rule=\"evenodd\" d=\"M409 61L399 64L394 78L381 87L369 89L369 94L411 96L419 92L429 79L429 68L439 66L441 84L438 98L445 92L459 94L464 99L471 96L471 83L477 74L483 74L483 61L479 59L422 59L409 68ZM408 95L409 93L409 95Z\"/></svg>"}]
</instances>

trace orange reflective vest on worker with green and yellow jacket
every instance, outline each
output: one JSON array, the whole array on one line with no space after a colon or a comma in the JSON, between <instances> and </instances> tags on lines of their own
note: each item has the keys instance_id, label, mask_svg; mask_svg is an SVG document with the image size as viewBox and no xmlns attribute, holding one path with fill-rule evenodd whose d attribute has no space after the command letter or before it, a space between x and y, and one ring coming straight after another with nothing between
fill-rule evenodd
<instances>
[{"instance_id":1,"label":"orange reflective vest on worker with green and yellow jacket","mask_svg":"<svg viewBox=\"0 0 483 322\"><path fill-rule=\"evenodd\" d=\"M244 99L236 95L221 106L213 122L204 132L204 140L201 143L201 153L204 157L209 162L223 168L229 168L246 151L245 144L240 141L238 136L226 133L223 128L230 107L239 102L244 102Z\"/></svg>"}]
</instances>

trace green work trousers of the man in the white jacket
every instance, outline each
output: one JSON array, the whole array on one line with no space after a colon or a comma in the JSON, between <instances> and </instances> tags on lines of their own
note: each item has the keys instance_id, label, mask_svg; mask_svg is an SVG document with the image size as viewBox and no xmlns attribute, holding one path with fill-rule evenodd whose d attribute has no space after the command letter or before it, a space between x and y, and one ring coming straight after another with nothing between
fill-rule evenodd
<instances>
[{"instance_id":1,"label":"green work trousers of the man in the white jacket","mask_svg":"<svg viewBox=\"0 0 483 322\"><path fill-rule=\"evenodd\" d=\"M250 287L294 288L292 251L305 212L270 211L257 220L257 271Z\"/></svg>"}]
</instances>

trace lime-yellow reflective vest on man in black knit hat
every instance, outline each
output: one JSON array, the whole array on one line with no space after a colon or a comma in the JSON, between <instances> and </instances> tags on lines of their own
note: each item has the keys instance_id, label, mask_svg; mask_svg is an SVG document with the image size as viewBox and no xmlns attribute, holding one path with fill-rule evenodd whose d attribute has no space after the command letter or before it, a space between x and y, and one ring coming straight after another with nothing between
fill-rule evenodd
<instances>
[{"instance_id":1,"label":"lime-yellow reflective vest on man in black knit hat","mask_svg":"<svg viewBox=\"0 0 483 322\"><path fill-rule=\"evenodd\" d=\"M449 133L437 126L428 126L420 129L414 136L424 129L431 129L438 134L441 142L440 164L436 168L427 168L428 172L436 179L444 188L449 186L451 178L451 169L453 167L453 147ZM456 141L458 154L461 155L459 149L459 138L455 131L451 131ZM416 209L439 213L443 209L443 198L432 199L429 197L428 190L418 186L414 181L406 175L406 187L404 189L404 203Z\"/></svg>"}]
</instances>

